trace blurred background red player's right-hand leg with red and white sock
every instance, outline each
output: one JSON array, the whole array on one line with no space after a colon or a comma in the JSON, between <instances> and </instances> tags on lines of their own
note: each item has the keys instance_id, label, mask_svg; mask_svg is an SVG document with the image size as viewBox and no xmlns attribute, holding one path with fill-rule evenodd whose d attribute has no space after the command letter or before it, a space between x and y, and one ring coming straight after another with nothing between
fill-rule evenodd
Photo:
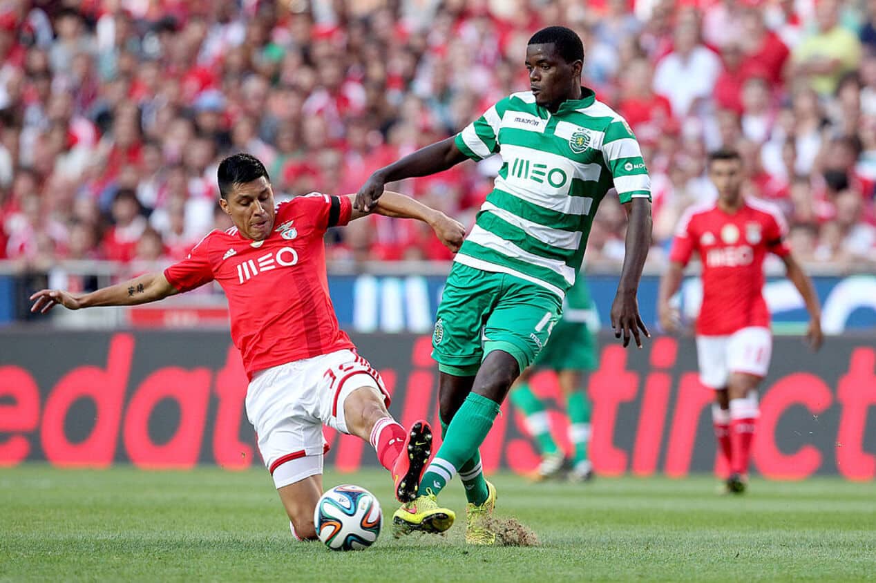
<instances>
[{"instance_id":1,"label":"blurred background red player's right-hand leg with red and white sock","mask_svg":"<svg viewBox=\"0 0 876 583\"><path fill-rule=\"evenodd\" d=\"M758 385L760 380L760 376L732 372L727 383L732 444L731 475L727 479L727 487L738 494L745 492L754 427L759 417Z\"/></svg>"}]
</instances>

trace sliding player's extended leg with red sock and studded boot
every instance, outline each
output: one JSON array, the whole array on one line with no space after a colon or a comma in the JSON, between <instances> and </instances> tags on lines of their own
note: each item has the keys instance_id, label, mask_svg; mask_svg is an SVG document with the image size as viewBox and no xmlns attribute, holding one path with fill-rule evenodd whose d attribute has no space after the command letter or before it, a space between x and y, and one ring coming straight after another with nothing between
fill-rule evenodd
<instances>
[{"instance_id":1,"label":"sliding player's extended leg with red sock and studded boot","mask_svg":"<svg viewBox=\"0 0 876 583\"><path fill-rule=\"evenodd\" d=\"M420 419L406 431L386 410L384 397L371 386L353 390L344 400L344 418L352 435L371 443L380 465L392 473L395 497L410 502L432 455L432 428Z\"/></svg>"}]
</instances>

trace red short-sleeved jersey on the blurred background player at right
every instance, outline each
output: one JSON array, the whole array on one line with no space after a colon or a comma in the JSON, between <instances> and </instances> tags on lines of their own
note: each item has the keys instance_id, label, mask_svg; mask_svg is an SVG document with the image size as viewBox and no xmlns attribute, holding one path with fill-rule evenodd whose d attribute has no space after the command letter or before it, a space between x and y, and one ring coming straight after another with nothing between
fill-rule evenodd
<instances>
[{"instance_id":1,"label":"red short-sleeved jersey on the blurred background player at right","mask_svg":"<svg viewBox=\"0 0 876 583\"><path fill-rule=\"evenodd\" d=\"M696 251L703 263L703 306L696 334L723 336L745 327L769 327L763 297L767 251L787 256L788 226L778 208L745 199L735 214L717 203L691 207L682 216L670 261L687 265Z\"/></svg>"}]
</instances>

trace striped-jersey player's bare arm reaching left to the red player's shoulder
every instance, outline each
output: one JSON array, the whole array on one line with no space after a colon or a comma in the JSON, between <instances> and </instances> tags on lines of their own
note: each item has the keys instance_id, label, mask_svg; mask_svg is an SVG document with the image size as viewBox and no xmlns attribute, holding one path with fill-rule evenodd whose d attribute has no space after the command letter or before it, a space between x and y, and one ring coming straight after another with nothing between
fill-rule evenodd
<instances>
[{"instance_id":1,"label":"striped-jersey player's bare arm reaching left to the red player's shoulder","mask_svg":"<svg viewBox=\"0 0 876 583\"><path fill-rule=\"evenodd\" d=\"M454 137L448 137L441 142L420 148L413 154L408 154L405 158L371 174L356 194L353 208L367 213L371 211L375 201L383 194L387 182L443 172L465 159L468 158L456 147Z\"/></svg>"}]
</instances>

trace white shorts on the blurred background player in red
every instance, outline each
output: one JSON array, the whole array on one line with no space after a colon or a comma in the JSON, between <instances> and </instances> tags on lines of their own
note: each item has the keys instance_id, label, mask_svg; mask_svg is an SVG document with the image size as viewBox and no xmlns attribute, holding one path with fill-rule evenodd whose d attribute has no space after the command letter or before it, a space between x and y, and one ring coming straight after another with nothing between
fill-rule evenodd
<instances>
[{"instance_id":1,"label":"white shorts on the blurred background player in red","mask_svg":"<svg viewBox=\"0 0 876 583\"><path fill-rule=\"evenodd\" d=\"M729 336L696 337L700 382L711 389L725 389L731 373L767 376L772 354L769 328L748 327Z\"/></svg>"}]
</instances>

